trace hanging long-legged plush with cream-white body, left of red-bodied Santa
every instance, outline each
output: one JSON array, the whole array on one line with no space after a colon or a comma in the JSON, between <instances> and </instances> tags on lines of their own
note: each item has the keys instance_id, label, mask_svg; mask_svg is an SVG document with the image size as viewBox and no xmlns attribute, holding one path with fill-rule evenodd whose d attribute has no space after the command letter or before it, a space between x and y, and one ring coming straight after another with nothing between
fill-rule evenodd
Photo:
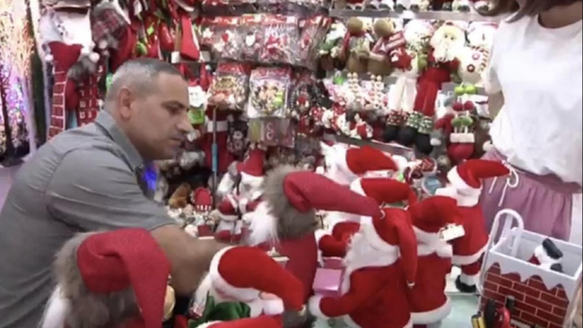
<instances>
[{"instance_id":1,"label":"hanging long-legged plush with cream-white body, left of red-bodied Santa","mask_svg":"<svg viewBox=\"0 0 583 328\"><path fill-rule=\"evenodd\" d=\"M434 28L430 22L415 20L405 25L406 47L395 54L396 83L388 95L385 142L397 140L407 117L413 113L417 95L417 79L427 65L427 46Z\"/></svg>"}]
</instances>

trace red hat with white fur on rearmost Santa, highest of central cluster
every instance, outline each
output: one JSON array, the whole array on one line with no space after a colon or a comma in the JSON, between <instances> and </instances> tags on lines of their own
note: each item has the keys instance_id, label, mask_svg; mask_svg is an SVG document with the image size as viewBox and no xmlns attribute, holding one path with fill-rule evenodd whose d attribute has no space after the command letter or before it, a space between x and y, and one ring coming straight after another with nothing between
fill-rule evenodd
<instances>
[{"instance_id":1,"label":"red hat with white fur on rearmost Santa, highest of central cluster","mask_svg":"<svg viewBox=\"0 0 583 328\"><path fill-rule=\"evenodd\" d=\"M326 177L343 186L350 186L366 172L398 170L390 155L370 146L345 148L324 142L320 146L326 160Z\"/></svg>"}]
</instances>

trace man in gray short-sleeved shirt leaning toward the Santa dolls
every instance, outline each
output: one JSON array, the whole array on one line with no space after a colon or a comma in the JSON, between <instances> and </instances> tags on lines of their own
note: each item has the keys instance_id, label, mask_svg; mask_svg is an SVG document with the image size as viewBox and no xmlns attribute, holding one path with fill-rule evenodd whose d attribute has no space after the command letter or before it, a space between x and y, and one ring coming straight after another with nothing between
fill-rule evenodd
<instances>
[{"instance_id":1,"label":"man in gray short-sleeved shirt leaning toward the Santa dolls","mask_svg":"<svg viewBox=\"0 0 583 328\"><path fill-rule=\"evenodd\" d=\"M117 70L96 122L59 134L26 163L0 211L0 328L36 328L55 282L51 265L74 234L152 231L187 295L222 246L174 225L139 184L144 162L174 157L192 128L187 82L152 59Z\"/></svg>"}]
</instances>

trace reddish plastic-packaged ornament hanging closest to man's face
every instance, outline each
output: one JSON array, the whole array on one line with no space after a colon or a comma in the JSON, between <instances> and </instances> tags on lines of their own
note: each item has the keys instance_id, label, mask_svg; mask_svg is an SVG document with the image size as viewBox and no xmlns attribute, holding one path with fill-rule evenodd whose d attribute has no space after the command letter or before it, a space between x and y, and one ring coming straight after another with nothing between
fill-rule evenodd
<instances>
[{"instance_id":1,"label":"reddish plastic-packaged ornament hanging closest to man's face","mask_svg":"<svg viewBox=\"0 0 583 328\"><path fill-rule=\"evenodd\" d=\"M247 64L219 64L209 90L209 105L242 110L247 100L249 73L250 66Z\"/></svg>"}]
</instances>

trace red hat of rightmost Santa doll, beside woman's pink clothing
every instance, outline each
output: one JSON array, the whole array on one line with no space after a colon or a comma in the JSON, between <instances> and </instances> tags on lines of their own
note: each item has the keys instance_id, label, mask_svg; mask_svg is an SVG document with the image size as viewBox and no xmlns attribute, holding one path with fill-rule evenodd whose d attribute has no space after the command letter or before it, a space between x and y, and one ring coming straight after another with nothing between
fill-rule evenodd
<instances>
[{"instance_id":1,"label":"red hat of rightmost Santa doll, beside woman's pink clothing","mask_svg":"<svg viewBox=\"0 0 583 328\"><path fill-rule=\"evenodd\" d=\"M493 160L466 160L448 173L449 183L457 190L482 188L482 180L510 174L509 168Z\"/></svg>"}]
</instances>

